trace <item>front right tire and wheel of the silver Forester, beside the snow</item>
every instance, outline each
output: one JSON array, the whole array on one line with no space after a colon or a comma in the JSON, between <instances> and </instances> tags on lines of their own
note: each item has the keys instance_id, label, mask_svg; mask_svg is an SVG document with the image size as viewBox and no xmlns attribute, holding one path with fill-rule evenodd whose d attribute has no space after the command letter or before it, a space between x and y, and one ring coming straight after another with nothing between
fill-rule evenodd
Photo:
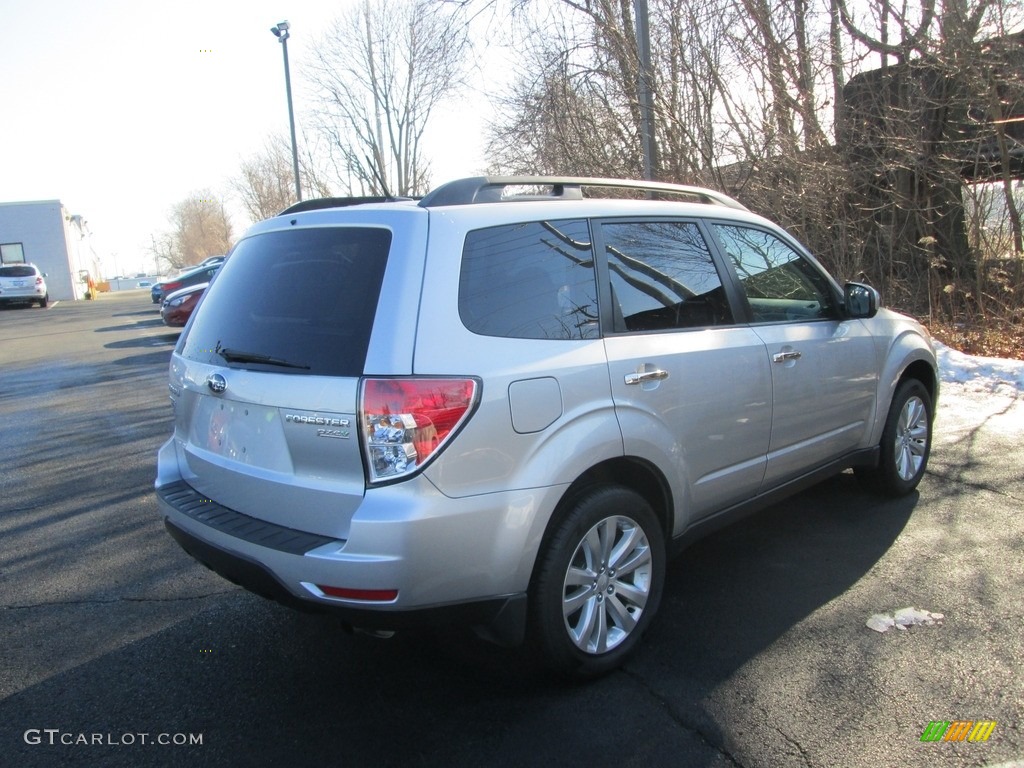
<instances>
[{"instance_id":1,"label":"front right tire and wheel of the silver Forester, beside the snow","mask_svg":"<svg viewBox=\"0 0 1024 768\"><path fill-rule=\"evenodd\" d=\"M879 465L859 467L857 478L883 496L906 496L921 482L932 452L932 396L916 379L896 388L879 443Z\"/></svg>"}]
</instances>

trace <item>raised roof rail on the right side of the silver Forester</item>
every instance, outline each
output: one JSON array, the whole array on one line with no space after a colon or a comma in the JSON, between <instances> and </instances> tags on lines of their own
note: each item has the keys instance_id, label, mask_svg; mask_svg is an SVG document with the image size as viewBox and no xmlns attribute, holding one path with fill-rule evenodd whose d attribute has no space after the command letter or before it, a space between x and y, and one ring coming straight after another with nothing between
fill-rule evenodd
<instances>
[{"instance_id":1,"label":"raised roof rail on the right side of the silver Forester","mask_svg":"<svg viewBox=\"0 0 1024 768\"><path fill-rule=\"evenodd\" d=\"M546 195L505 196L505 189L509 186L550 186L551 191ZM419 204L424 208L431 208L516 200L583 200L583 187L585 186L635 189L673 196L682 195L696 198L701 203L735 208L741 211L748 210L746 206L728 195L714 189L706 189L702 186L669 184L663 181L587 178L585 176L474 176L441 184L427 194Z\"/></svg>"}]
</instances>

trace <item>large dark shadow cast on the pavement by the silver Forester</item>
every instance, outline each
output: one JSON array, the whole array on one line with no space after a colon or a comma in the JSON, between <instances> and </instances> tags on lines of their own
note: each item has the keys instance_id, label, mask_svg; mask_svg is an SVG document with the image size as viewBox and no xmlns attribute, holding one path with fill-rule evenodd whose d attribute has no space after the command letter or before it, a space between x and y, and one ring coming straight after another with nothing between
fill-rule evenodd
<instances>
[{"instance_id":1,"label":"large dark shadow cast on the pavement by the silver Forester","mask_svg":"<svg viewBox=\"0 0 1024 768\"><path fill-rule=\"evenodd\" d=\"M722 746L727 724L702 701L857 582L913 505L879 504L844 475L697 543L670 565L639 655L585 686L550 679L522 649L456 631L352 636L329 616L245 592L202 609L140 602L128 609L140 620L150 610L184 615L0 702L11 731L4 743L24 766L228 765L240 756L247 765L339 756L380 766L735 765ZM27 744L22 734L33 727L115 738L201 733L203 744Z\"/></svg>"}]
</instances>

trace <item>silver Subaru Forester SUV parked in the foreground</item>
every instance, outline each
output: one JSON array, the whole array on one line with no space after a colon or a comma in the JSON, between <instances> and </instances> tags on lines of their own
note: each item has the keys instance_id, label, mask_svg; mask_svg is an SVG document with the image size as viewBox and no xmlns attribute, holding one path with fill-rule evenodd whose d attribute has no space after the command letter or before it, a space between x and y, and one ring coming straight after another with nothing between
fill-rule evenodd
<instances>
[{"instance_id":1,"label":"silver Subaru Forester SUV parked in the foreground","mask_svg":"<svg viewBox=\"0 0 1024 768\"><path fill-rule=\"evenodd\" d=\"M878 302L696 187L299 204L246 233L174 350L160 511L283 603L601 674L678 546L847 468L918 485L935 354Z\"/></svg>"}]
</instances>

